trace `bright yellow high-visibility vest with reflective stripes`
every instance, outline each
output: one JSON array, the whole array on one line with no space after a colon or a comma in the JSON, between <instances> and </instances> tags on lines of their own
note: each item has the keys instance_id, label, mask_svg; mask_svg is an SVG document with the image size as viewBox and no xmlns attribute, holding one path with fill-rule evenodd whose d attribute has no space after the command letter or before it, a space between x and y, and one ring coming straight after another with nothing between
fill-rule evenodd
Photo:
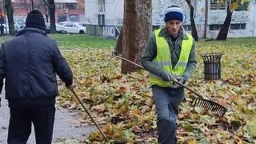
<instances>
[{"instance_id":1,"label":"bright yellow high-visibility vest with reflective stripes","mask_svg":"<svg viewBox=\"0 0 256 144\"><path fill-rule=\"evenodd\" d=\"M162 29L154 31L157 46L157 56L156 58L154 58L153 62L155 65L161 67L162 70L166 70L170 74L182 76L184 71L186 70L186 65L190 56L190 50L193 45L193 38L190 34L186 33L188 39L182 39L181 54L179 55L176 66L173 68L170 58L169 44L164 37L158 36ZM162 81L162 79L159 78L157 75L150 73L150 84L167 87L171 86L172 83Z\"/></svg>"}]
</instances>

